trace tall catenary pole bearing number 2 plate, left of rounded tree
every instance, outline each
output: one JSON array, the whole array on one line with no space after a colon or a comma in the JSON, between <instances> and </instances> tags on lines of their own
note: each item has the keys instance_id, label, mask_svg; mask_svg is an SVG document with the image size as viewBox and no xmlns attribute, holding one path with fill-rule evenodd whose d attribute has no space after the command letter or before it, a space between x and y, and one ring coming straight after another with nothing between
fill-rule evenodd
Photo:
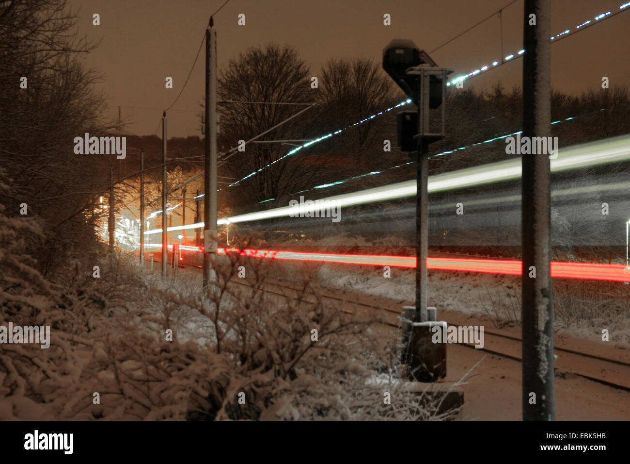
<instances>
[{"instance_id":1,"label":"tall catenary pole bearing number 2 plate, left of rounded tree","mask_svg":"<svg viewBox=\"0 0 630 464\"><path fill-rule=\"evenodd\" d=\"M205 172L203 196L203 290L212 277L217 251L217 33L211 17L205 31Z\"/></svg>"}]
</instances>

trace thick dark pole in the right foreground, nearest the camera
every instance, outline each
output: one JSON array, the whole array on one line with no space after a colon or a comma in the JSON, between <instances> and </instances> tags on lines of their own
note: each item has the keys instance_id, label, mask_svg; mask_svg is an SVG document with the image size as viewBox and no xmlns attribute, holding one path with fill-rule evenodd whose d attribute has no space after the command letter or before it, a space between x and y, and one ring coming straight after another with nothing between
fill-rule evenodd
<instances>
[{"instance_id":1,"label":"thick dark pole in the right foreground, nearest the camera","mask_svg":"<svg viewBox=\"0 0 630 464\"><path fill-rule=\"evenodd\" d=\"M546 138L551 136L551 0L525 0L523 21L522 136ZM523 420L555 420L549 156L522 155L522 176Z\"/></svg>"}]
</instances>

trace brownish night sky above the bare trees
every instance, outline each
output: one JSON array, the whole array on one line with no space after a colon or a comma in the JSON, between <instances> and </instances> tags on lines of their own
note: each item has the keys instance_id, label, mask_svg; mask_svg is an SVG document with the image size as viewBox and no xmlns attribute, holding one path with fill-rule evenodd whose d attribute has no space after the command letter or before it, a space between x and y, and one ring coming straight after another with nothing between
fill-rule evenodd
<instances>
[{"instance_id":1,"label":"brownish night sky above the bare trees","mask_svg":"<svg viewBox=\"0 0 630 464\"><path fill-rule=\"evenodd\" d=\"M85 58L98 68L104 81L98 90L109 98L111 114L122 105L128 129L153 134L163 109L177 97L202 42L209 15L224 0L73 0L80 7L79 32L99 47ZM249 47L267 42L289 44L299 50L311 76L318 76L329 58L370 57L381 60L383 47L394 38L411 39L432 51L458 33L509 3L508 0L231 0L216 16L219 68ZM555 0L552 31L559 33L606 11L617 11L621 0ZM93 13L101 25L92 25ZM238 26L238 15L246 25ZM383 15L391 15L391 26ZM522 48L523 0L503 11L504 56ZM630 83L630 13L561 40L552 47L552 84L562 92L600 88L602 76L610 86ZM467 73L500 60L500 21L493 17L431 56L438 66ZM201 135L199 103L203 99L204 51L183 94L169 112L168 136ZM520 85L522 60L500 66L467 81L477 88L501 80L510 89ZM164 87L173 77L174 88ZM320 87L326 85L319 82ZM317 92L317 90L313 90ZM158 133L159 135L161 133Z\"/></svg>"}]
</instances>

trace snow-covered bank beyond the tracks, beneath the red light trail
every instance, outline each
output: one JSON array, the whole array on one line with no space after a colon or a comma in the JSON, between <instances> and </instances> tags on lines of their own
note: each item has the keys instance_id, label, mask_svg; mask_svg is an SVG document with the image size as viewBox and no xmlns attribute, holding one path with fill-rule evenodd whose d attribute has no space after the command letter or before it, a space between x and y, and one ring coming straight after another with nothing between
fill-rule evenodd
<instances>
[{"instance_id":1,"label":"snow-covered bank beyond the tracks, beneath the red light trail","mask_svg":"<svg viewBox=\"0 0 630 464\"><path fill-rule=\"evenodd\" d=\"M287 275L302 264L284 263ZM413 302L415 270L391 268L391 277L376 266L323 264L318 280L329 289L350 289L398 302ZM566 333L588 340L602 340L602 330L610 341L630 347L630 298L622 283L589 283L581 280L554 281L556 333ZM592 291L591 291L592 290ZM428 302L438 309L490 318L497 327L517 325L520 321L520 276L462 271L429 271Z\"/></svg>"}]
</instances>

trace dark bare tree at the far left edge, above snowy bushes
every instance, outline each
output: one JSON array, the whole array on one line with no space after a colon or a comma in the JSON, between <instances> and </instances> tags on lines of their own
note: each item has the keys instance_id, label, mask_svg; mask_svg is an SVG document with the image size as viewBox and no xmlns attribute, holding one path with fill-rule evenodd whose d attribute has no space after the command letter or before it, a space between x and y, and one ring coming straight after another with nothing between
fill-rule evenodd
<instances>
[{"instance_id":1,"label":"dark bare tree at the far left edge, above snowy bushes","mask_svg":"<svg viewBox=\"0 0 630 464\"><path fill-rule=\"evenodd\" d=\"M107 187L103 160L73 150L74 137L112 128L100 120L105 100L92 90L98 75L77 61L93 49L75 32L77 18L65 0L0 6L0 181L10 186L6 214L26 203L46 221L43 266L94 239L91 218Z\"/></svg>"}]
</instances>

